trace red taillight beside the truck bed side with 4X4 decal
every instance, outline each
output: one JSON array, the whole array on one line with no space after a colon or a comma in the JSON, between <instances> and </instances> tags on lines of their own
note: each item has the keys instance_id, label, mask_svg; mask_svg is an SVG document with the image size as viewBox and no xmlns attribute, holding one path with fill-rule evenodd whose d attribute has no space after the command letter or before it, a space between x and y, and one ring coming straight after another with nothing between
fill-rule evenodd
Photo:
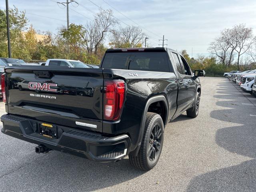
<instances>
[{"instance_id":1,"label":"red taillight beside the truck bed side with 4X4 decal","mask_svg":"<svg viewBox=\"0 0 256 192\"><path fill-rule=\"evenodd\" d=\"M104 81L104 120L118 120L124 105L125 83L123 80Z\"/></svg>"}]
</instances>

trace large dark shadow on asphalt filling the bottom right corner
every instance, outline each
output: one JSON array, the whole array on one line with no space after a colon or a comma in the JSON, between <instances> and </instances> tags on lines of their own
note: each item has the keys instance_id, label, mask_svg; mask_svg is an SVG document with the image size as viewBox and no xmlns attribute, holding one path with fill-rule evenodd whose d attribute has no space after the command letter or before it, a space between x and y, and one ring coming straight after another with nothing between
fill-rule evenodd
<instances>
[{"instance_id":1,"label":"large dark shadow on asphalt filling the bottom right corner","mask_svg":"<svg viewBox=\"0 0 256 192\"><path fill-rule=\"evenodd\" d=\"M192 179L187 192L255 192L256 160L209 172Z\"/></svg>"}]
</instances>

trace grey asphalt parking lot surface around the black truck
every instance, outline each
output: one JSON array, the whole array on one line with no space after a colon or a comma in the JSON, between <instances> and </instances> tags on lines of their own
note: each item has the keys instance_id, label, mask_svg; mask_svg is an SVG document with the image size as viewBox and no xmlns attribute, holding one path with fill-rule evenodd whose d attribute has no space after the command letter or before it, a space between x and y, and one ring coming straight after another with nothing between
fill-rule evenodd
<instances>
[{"instance_id":1,"label":"grey asphalt parking lot surface around the black truck","mask_svg":"<svg viewBox=\"0 0 256 192\"><path fill-rule=\"evenodd\" d=\"M166 126L160 160L149 172L128 158L102 164L56 151L36 154L36 145L0 132L0 191L254 192L256 98L226 78L201 82L198 117L184 114Z\"/></svg>"}]
</instances>

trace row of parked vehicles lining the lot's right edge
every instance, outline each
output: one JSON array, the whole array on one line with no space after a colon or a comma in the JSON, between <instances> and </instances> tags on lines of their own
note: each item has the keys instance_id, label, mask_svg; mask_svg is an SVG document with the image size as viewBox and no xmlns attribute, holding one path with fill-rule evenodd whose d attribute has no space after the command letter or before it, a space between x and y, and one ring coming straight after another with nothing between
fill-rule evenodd
<instances>
[{"instance_id":1,"label":"row of parked vehicles lining the lot's right edge","mask_svg":"<svg viewBox=\"0 0 256 192\"><path fill-rule=\"evenodd\" d=\"M244 92L256 97L256 69L247 71L231 71L224 73L224 77L235 82Z\"/></svg>"}]
</instances>

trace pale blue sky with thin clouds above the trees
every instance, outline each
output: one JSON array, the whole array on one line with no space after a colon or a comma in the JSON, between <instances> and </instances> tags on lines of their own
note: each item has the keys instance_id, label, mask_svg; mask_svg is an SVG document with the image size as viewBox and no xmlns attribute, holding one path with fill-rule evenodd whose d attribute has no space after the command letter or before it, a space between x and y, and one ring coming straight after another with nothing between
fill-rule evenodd
<instances>
[{"instance_id":1,"label":"pale blue sky with thin clouds above the trees","mask_svg":"<svg viewBox=\"0 0 256 192\"><path fill-rule=\"evenodd\" d=\"M58 6L66 0L9 0L9 7L26 10L29 24L36 30L56 32L66 26L66 8ZM209 55L210 42L224 28L240 23L253 28L256 35L256 0L76 0L69 4L70 23L86 24L93 20L93 12L103 9L113 10L114 16L121 20L120 25L137 26L131 20L145 28L149 36L148 43L157 47L163 35L167 47L174 50L186 49L190 56ZM86 8L84 8L86 7ZM5 9L5 0L0 0L0 9ZM48 18L46 18L48 17ZM126 23L126 24L124 24ZM106 39L105 44L107 45ZM193 53L192 53L193 50ZM193 54L193 55L192 55Z\"/></svg>"}]
</instances>

